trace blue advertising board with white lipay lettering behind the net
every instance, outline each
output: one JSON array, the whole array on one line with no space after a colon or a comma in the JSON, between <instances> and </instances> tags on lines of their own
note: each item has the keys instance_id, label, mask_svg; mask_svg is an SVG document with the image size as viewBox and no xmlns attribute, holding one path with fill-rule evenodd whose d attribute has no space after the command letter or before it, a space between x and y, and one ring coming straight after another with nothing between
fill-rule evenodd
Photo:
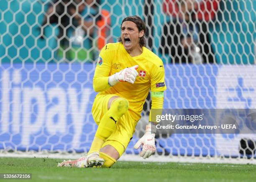
<instances>
[{"instance_id":1,"label":"blue advertising board with white lipay lettering behind the net","mask_svg":"<svg viewBox=\"0 0 256 182\"><path fill-rule=\"evenodd\" d=\"M255 69L165 65L164 108L256 108ZM2 64L0 150L87 152L97 130L94 70L95 64ZM156 139L156 147L172 155L238 155L241 137L246 135L173 134ZM137 140L127 153L138 154Z\"/></svg>"}]
</instances>

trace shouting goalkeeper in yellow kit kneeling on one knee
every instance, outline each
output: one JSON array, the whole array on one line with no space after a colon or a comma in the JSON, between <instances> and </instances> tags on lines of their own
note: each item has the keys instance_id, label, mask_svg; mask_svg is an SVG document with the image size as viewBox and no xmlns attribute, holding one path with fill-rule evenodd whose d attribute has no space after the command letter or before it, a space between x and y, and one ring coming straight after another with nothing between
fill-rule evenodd
<instances>
[{"instance_id":1,"label":"shouting goalkeeper in yellow kit kneeling on one knee","mask_svg":"<svg viewBox=\"0 0 256 182\"><path fill-rule=\"evenodd\" d=\"M98 125L92 146L86 157L64 161L59 166L111 167L132 139L150 89L151 108L162 109L166 90L164 66L158 56L144 47L145 31L140 17L126 17L118 43L102 48L93 78L94 90L99 93L92 106ZM143 145L140 156L144 159L156 150L156 127L150 122L145 135L134 146L138 149Z\"/></svg>"}]
</instances>

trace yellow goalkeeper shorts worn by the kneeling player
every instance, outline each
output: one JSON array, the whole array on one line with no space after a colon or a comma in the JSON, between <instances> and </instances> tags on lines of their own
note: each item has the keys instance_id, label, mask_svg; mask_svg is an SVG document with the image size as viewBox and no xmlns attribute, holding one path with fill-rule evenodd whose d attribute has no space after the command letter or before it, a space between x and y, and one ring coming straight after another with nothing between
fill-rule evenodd
<instances>
[{"instance_id":1,"label":"yellow goalkeeper shorts worn by the kneeling player","mask_svg":"<svg viewBox=\"0 0 256 182\"><path fill-rule=\"evenodd\" d=\"M102 116L108 111L108 101L113 96L118 96L118 95L98 94L95 97L94 103L92 105L92 116L97 125L100 124L100 120ZM120 117L114 132L110 135L110 137L108 137L105 144L115 147L115 149L118 150L119 155L121 156L133 137L136 124L137 124L137 121L131 117L131 114L128 110L127 112L125 112L125 114L122 117ZM119 143L123 145L123 148L120 147ZM103 147L105 146L105 144L103 144Z\"/></svg>"}]
</instances>

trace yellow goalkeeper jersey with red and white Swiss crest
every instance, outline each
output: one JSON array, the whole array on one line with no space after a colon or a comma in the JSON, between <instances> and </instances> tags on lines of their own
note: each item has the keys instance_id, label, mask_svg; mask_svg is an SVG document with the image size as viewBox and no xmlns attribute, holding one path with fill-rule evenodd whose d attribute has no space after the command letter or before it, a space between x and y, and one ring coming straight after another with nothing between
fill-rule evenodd
<instances>
[{"instance_id":1,"label":"yellow goalkeeper jersey with red and white Swiss crest","mask_svg":"<svg viewBox=\"0 0 256 182\"><path fill-rule=\"evenodd\" d=\"M134 65L139 66L134 84L119 82L113 87L108 85L110 75ZM98 78L101 78L101 82L95 81ZM131 57L120 42L108 43L102 48L93 79L94 88L101 88L95 89L100 91L99 94L115 94L127 99L129 112L137 121L141 118L141 111L149 90L153 92L166 90L162 60L146 47L143 47L141 55Z\"/></svg>"}]
</instances>

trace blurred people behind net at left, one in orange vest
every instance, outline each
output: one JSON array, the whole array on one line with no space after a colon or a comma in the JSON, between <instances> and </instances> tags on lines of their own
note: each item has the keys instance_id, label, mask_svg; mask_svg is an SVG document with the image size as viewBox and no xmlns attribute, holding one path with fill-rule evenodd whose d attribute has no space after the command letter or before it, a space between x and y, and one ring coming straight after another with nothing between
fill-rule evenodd
<instances>
[{"instance_id":1,"label":"blurred people behind net at left, one in orange vest","mask_svg":"<svg viewBox=\"0 0 256 182\"><path fill-rule=\"evenodd\" d=\"M40 27L41 39L47 38L45 27L55 25L59 30L55 57L91 61L111 41L110 23L110 12L100 8L100 0L52 0Z\"/></svg>"}]
</instances>

